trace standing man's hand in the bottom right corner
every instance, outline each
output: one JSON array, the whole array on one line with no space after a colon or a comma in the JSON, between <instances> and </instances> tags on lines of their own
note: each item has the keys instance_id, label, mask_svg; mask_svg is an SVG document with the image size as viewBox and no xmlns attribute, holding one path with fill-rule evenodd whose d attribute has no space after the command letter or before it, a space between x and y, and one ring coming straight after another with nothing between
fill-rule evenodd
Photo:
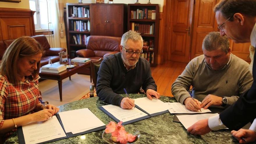
<instances>
[{"instance_id":1,"label":"standing man's hand in the bottom right corner","mask_svg":"<svg viewBox=\"0 0 256 144\"><path fill-rule=\"evenodd\" d=\"M231 131L231 134L239 141L239 143L249 143L256 140L256 132L250 129L239 129ZM243 137L247 142L241 139Z\"/></svg>"}]
</instances>

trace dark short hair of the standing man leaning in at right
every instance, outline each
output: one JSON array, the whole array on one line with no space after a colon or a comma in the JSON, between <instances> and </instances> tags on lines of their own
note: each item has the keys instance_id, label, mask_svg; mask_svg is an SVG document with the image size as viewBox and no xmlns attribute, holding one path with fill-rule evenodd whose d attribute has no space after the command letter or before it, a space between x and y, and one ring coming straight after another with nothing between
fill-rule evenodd
<instances>
[{"instance_id":1,"label":"dark short hair of the standing man leaning in at right","mask_svg":"<svg viewBox=\"0 0 256 144\"><path fill-rule=\"evenodd\" d=\"M214 12L220 11L222 15L229 20L233 21L233 15L235 13L241 13L244 15L256 16L256 0L221 0L214 7Z\"/></svg>"}]
</instances>

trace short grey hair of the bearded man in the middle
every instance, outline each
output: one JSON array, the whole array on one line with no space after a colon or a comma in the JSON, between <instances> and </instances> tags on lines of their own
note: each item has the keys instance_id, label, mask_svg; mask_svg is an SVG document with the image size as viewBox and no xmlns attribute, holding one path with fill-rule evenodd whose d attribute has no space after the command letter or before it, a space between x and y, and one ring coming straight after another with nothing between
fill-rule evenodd
<instances>
[{"instance_id":1,"label":"short grey hair of the bearded man in the middle","mask_svg":"<svg viewBox=\"0 0 256 144\"><path fill-rule=\"evenodd\" d=\"M122 36L122 39L121 39L121 45L125 47L128 39L131 39L134 42L140 40L143 45L143 39L142 39L141 35L139 33L137 33L136 31L130 30L130 31L127 31L126 33L124 33Z\"/></svg>"}]
</instances>

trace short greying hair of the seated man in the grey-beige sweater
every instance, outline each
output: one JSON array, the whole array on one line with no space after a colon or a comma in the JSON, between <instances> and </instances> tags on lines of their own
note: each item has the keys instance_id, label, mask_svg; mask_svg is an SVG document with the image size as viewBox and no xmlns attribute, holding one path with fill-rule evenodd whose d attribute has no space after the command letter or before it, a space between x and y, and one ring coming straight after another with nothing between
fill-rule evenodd
<instances>
[{"instance_id":1,"label":"short greying hair of the seated man in the grey-beige sweater","mask_svg":"<svg viewBox=\"0 0 256 144\"><path fill-rule=\"evenodd\" d=\"M229 49L229 40L226 36L221 36L220 32L210 32L208 33L204 40L202 49L207 51L213 51L216 49L221 49L226 54L228 53Z\"/></svg>"}]
</instances>

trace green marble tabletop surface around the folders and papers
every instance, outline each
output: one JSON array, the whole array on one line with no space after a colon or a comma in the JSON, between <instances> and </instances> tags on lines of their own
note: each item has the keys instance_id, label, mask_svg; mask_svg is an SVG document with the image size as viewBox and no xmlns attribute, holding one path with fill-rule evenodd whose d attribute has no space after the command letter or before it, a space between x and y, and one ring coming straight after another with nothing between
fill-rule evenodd
<instances>
[{"instance_id":1,"label":"green marble tabletop surface around the folders and papers","mask_svg":"<svg viewBox=\"0 0 256 144\"><path fill-rule=\"evenodd\" d=\"M145 97L142 94L130 94L131 98ZM176 102L173 97L161 96L160 100L163 102ZM98 109L99 106L106 105L98 97L92 97L88 99L82 99L68 104L59 106L60 111L69 111L74 109L89 108L102 122L108 124L109 121L113 121L104 112ZM230 130L213 131L203 136L194 136L189 134L186 129L179 122L173 122L173 114L165 113L152 118L134 122L130 125L136 127L140 133L141 138L136 143L141 144L189 144L189 143L238 143L238 141L230 134ZM75 136L59 141L51 142L52 144L98 144L106 143L102 139L102 133L104 130L95 131L89 134ZM5 142L6 144L18 144L17 133L14 133Z\"/></svg>"}]
</instances>

